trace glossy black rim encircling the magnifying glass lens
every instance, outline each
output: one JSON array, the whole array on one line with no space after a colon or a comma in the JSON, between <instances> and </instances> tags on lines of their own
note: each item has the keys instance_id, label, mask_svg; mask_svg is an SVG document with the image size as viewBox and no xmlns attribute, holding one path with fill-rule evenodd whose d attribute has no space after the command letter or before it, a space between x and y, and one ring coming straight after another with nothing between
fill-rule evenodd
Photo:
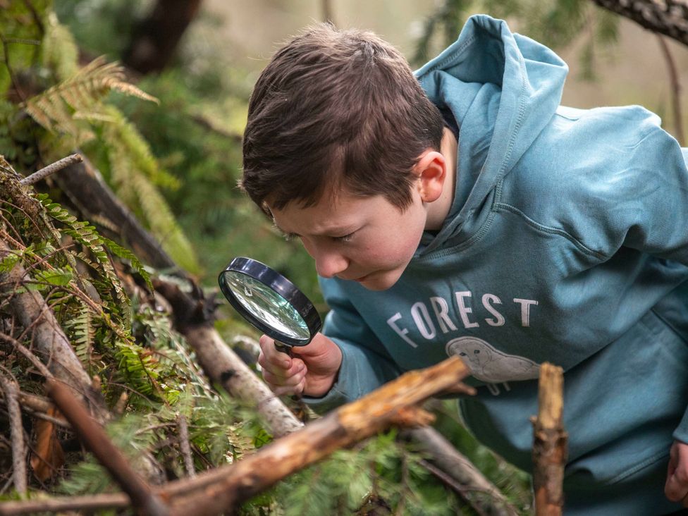
<instances>
[{"instance_id":1,"label":"glossy black rim encircling the magnifying glass lens","mask_svg":"<svg viewBox=\"0 0 688 516\"><path fill-rule=\"evenodd\" d=\"M238 272L240 274L250 276L250 278L263 283L263 285L266 285L281 295L297 310L297 312L299 312L300 316L306 323L310 333L310 338L308 338L308 340L303 340L287 336L284 333L275 330L271 326L268 326L262 320L255 317L252 313L248 312L234 295L232 289L229 288L229 285L225 280L226 272ZM232 305L244 319L249 321L259 331L265 333L266 336L274 338L283 344L290 346L305 346L310 343L312 338L316 333L318 333L318 331L320 331L320 328L322 327L320 315L308 297L306 297L306 295L302 293L301 290L294 285L294 283L258 260L247 257L236 257L229 263L228 266L223 269L223 271L221 271L221 273L218 275L217 281L220 285L221 292L226 297L230 305Z\"/></svg>"}]
</instances>

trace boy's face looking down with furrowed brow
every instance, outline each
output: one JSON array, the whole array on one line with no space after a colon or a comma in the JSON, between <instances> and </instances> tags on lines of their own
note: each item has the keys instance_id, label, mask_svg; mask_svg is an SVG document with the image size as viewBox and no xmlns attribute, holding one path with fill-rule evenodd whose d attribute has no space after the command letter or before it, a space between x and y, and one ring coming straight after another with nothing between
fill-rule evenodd
<instances>
[{"instance_id":1,"label":"boy's face looking down with furrowed brow","mask_svg":"<svg viewBox=\"0 0 688 516\"><path fill-rule=\"evenodd\" d=\"M348 192L324 195L312 207L290 203L271 212L285 235L301 239L320 276L385 290L403 273L426 226L426 207L416 188L412 197L403 212L381 195Z\"/></svg>"}]
</instances>

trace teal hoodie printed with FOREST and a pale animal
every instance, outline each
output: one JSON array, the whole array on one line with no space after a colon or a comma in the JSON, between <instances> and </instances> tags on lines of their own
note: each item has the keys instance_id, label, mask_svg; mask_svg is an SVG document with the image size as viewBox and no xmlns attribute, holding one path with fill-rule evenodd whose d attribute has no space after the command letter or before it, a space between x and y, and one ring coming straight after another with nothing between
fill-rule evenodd
<instances>
[{"instance_id":1,"label":"teal hoodie printed with FOREST and a pale animal","mask_svg":"<svg viewBox=\"0 0 688 516\"><path fill-rule=\"evenodd\" d=\"M460 401L468 426L529 470L551 362L565 370L571 489L625 481L688 442L688 149L639 106L559 106L566 74L488 16L417 71L460 128L453 207L392 288L321 280L344 359L310 403L457 354L478 387Z\"/></svg>"}]
</instances>

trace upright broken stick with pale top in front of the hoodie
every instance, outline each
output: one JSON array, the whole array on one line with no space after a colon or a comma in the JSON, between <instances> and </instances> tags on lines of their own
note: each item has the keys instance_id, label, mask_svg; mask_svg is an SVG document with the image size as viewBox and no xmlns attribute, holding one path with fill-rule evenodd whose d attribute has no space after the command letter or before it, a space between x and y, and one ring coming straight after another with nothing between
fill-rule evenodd
<instances>
[{"instance_id":1,"label":"upright broken stick with pale top in front of the hoodie","mask_svg":"<svg viewBox=\"0 0 688 516\"><path fill-rule=\"evenodd\" d=\"M563 386L563 369L548 363L542 364L538 416L532 419L533 484L537 516L560 516L564 505L562 484L568 437L562 421Z\"/></svg>"}]
</instances>

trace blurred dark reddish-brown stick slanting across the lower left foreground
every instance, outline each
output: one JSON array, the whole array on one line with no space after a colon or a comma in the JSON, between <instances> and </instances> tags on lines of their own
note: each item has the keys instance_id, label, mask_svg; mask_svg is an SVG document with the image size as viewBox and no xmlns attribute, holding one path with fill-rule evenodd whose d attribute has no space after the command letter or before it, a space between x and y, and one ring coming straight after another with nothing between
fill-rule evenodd
<instances>
[{"instance_id":1,"label":"blurred dark reddish-brown stick slanting across the lower left foreground","mask_svg":"<svg viewBox=\"0 0 688 516\"><path fill-rule=\"evenodd\" d=\"M166 505L130 467L110 441L102 426L92 419L70 390L59 381L48 380L46 391L72 425L82 443L91 450L122 490L129 495L133 507L143 515L166 516L168 514Z\"/></svg>"}]
</instances>

